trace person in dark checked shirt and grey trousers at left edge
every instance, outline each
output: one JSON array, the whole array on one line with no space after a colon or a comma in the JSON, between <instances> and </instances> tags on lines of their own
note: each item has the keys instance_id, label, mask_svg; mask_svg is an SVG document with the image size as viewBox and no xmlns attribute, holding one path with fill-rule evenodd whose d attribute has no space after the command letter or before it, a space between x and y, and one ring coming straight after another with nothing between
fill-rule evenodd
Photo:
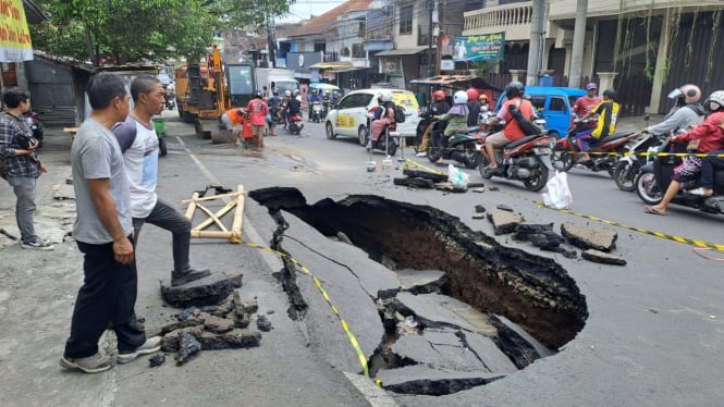
<instances>
[{"instance_id":1,"label":"person in dark checked shirt and grey trousers at left edge","mask_svg":"<svg viewBox=\"0 0 724 407\"><path fill-rule=\"evenodd\" d=\"M2 99L7 110L0 116L0 175L15 194L15 222L20 229L21 247L52 250L52 245L35 234L33 224L37 181L48 169L36 152L40 141L33 137L33 132L21 119L30 109L30 94L13 86L3 89Z\"/></svg>"}]
</instances>

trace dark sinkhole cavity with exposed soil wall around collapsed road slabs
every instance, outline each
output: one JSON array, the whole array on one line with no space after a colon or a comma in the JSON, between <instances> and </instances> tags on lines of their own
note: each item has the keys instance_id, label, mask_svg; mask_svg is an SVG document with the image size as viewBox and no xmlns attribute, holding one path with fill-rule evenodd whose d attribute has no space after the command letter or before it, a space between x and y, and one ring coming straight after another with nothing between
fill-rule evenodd
<instances>
[{"instance_id":1,"label":"dark sinkhole cavity with exposed soil wall around collapsed road slabs","mask_svg":"<svg viewBox=\"0 0 724 407\"><path fill-rule=\"evenodd\" d=\"M393 271L443 271L445 279L440 287L441 294L492 316L495 333L490 336L517 369L545 356L537 351L540 346L533 346L531 342L548 349L559 349L575 337L588 317L585 297L559 263L502 246L491 236L470 230L459 219L439 209L372 195L354 195L339 201L323 199L307 205L299 190L284 187L257 189L249 196L266 206L278 224L284 223L283 211L287 211L326 236L338 236L342 232L370 259ZM280 234L283 231L278 231L275 236ZM380 298L372 300L384 303ZM401 309L380 311L388 338L370 359L372 373L414 363L391 355L389 350L389 345L400 336L400 329L385 321L385 314L389 317L394 312L398 313ZM529 335L535 340L527 341L525 337L529 338ZM429 384L413 390L401 385L392 390L446 394L490 381L457 383L456 388L446 381L438 390L431 390Z\"/></svg>"}]
</instances>

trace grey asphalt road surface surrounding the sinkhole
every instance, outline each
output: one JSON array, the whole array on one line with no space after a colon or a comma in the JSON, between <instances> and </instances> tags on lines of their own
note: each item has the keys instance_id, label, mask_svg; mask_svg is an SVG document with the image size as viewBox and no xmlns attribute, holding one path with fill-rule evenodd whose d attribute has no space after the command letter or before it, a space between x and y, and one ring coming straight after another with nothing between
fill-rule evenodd
<instances>
[{"instance_id":1,"label":"grey asphalt road surface surrounding the sinkhole","mask_svg":"<svg viewBox=\"0 0 724 407\"><path fill-rule=\"evenodd\" d=\"M183 367L173 361L149 369L146 361L119 366L108 373L81 375L62 371L57 359L70 326L75 291L81 284L79 257L73 246L40 254L30 269L3 267L0 292L0 384L3 406L712 406L721 404L721 366L724 361L722 326L724 279L722 258L715 250L635 231L634 227L724 244L724 217L684 208L670 208L667 217L643 213L635 193L617 189L606 173L574 169L568 182L572 212L537 205L541 197L517 182L484 181L477 170L471 182L498 186L483 194L444 194L394 186L401 170L382 170L383 155L375 153L378 169L368 173L367 151L355 138L329 140L321 124L305 123L300 136L279 130L267 137L261 153L211 145L194 137L193 126L167 112L169 155L161 159L159 196L174 202L209 184L245 190L274 186L295 187L308 203L342 199L352 194L429 205L459 217L473 230L493 235L488 221L473 220L476 205L493 208L505 203L527 222L562 222L609 227L618 233L614 254L625 267L566 259L498 236L507 246L553 258L575 279L586 296L590 317L575 340L554 356L536 361L503 380L447 396L380 396L361 378L355 355L332 360L332 349L348 346L329 307L314 307L308 321L333 321L339 330L287 318L286 297L271 275L281 262L272 254L218 240L194 240L194 264L214 272L245 273L243 296L256 296L260 312L269 312L274 329L265 333L261 346L245 350L205 351ZM393 158L413 156L410 149ZM57 151L57 168L68 164ZM413 158L424 165L427 159ZM437 170L437 168L435 168ZM444 169L443 169L444 171ZM42 178L41 178L42 180ZM47 181L41 181L46 183ZM9 189L3 186L2 193ZM8 206L5 206L8 207ZM599 220L604 220L602 223ZM621 226L623 225L623 226ZM268 244L273 222L265 208L248 202L244 239ZM625 227L627 226L627 227ZM175 310L159 298L157 282L170 271L170 236L152 226L140 237L137 310L147 325L158 328ZM7 254L20 249L2 248ZM49 266L50 264L50 266ZM315 264L310 264L314 266ZM45 272L45 274L41 274ZM347 296L343 286L328 286L333 299ZM340 312L354 321L354 309ZM351 323L359 331L360 324ZM364 325L363 325L364 326ZM361 336L361 334L360 334ZM330 350L330 351L328 351ZM357 363L358 365L358 363ZM361 379L361 380L360 380ZM371 388L370 388L371 387ZM364 390L360 390L364 388Z\"/></svg>"}]
</instances>

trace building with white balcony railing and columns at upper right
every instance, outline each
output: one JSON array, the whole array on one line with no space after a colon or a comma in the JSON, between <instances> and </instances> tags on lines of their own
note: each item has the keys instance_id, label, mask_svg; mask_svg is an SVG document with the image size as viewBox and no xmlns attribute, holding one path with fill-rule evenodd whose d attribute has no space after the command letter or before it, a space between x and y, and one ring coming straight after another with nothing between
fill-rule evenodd
<instances>
[{"instance_id":1,"label":"building with white balcony railing and columns at upper right","mask_svg":"<svg viewBox=\"0 0 724 407\"><path fill-rule=\"evenodd\" d=\"M584 40L581 76L616 73L623 114L665 112L665 95L686 83L704 94L724 89L724 42L719 0L588 0L584 38L574 38L577 0L549 0L541 34L540 71L567 85L575 39ZM489 0L465 13L464 35L505 32L501 72L526 70L531 35L532 1ZM536 73L539 74L539 73Z\"/></svg>"}]
</instances>

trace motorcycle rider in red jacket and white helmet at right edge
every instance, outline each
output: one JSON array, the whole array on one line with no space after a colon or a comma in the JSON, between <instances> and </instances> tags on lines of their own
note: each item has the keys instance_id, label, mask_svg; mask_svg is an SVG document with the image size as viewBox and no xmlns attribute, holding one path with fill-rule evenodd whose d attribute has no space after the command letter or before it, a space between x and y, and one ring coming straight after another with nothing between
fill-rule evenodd
<instances>
[{"instance_id":1,"label":"motorcycle rider in red jacket and white helmet at right edge","mask_svg":"<svg viewBox=\"0 0 724 407\"><path fill-rule=\"evenodd\" d=\"M724 123L724 90L716 90L711 94L709 99L704 101L704 106L712 112L709 118L690 132L672 136L668 140L673 143L699 140L697 146L697 152L699 153L724 150L724 125L722 124ZM688 157L682 165L674 170L672 182L668 184L668 188L666 188L661 202L645 206L643 211L652 214L666 214L666 208L676 194L678 194L682 184L699 176L701 169L700 157ZM713 187L713 177L710 185ZM702 187L699 190L692 190L692 193L705 196L707 194L711 195L712 189Z\"/></svg>"}]
</instances>

